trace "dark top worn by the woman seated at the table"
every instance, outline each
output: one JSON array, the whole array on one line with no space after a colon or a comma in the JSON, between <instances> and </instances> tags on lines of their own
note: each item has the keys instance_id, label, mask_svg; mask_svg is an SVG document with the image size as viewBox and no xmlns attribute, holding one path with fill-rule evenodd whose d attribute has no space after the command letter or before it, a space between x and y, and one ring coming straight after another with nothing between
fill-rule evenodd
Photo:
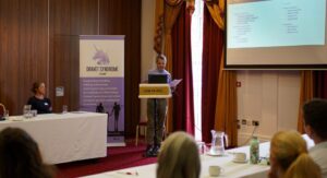
<instances>
[{"instance_id":1,"label":"dark top worn by the woman seated at the table","mask_svg":"<svg viewBox=\"0 0 327 178\"><path fill-rule=\"evenodd\" d=\"M36 109L37 114L51 114L51 100L49 98L39 99L35 96L32 96L27 105L31 105L31 109Z\"/></svg>"}]
</instances>

